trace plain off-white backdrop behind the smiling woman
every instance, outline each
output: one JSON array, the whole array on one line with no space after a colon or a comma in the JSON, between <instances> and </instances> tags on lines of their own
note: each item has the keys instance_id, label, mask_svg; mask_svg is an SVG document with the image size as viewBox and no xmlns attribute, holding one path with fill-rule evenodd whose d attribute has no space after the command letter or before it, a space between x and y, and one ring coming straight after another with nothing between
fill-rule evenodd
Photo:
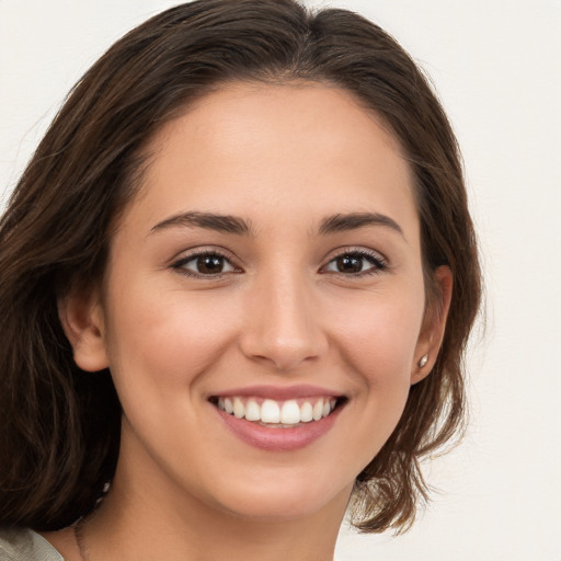
<instances>
[{"instance_id":1,"label":"plain off-white backdrop behind the smiling woman","mask_svg":"<svg viewBox=\"0 0 561 561\"><path fill-rule=\"evenodd\" d=\"M0 0L3 201L84 70L175 3ZM362 12L432 77L463 150L488 293L468 357L470 430L426 467L438 492L409 534L343 529L337 556L561 561L561 1L308 4Z\"/></svg>"}]
</instances>

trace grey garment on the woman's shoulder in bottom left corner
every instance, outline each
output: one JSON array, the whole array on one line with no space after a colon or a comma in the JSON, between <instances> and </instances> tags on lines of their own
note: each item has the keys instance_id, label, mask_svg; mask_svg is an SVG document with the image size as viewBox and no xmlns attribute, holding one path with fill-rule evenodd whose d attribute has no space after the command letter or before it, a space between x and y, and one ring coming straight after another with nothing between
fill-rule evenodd
<instances>
[{"instance_id":1,"label":"grey garment on the woman's shoulder in bottom left corner","mask_svg":"<svg viewBox=\"0 0 561 561\"><path fill-rule=\"evenodd\" d=\"M37 533L26 528L0 528L0 561L65 561Z\"/></svg>"}]
</instances>

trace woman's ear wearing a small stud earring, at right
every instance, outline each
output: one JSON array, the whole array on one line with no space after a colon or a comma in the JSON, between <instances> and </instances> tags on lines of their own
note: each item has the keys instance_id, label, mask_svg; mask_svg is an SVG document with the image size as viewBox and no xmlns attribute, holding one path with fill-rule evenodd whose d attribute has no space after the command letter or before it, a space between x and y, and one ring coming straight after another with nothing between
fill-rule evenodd
<instances>
[{"instance_id":1,"label":"woman's ear wearing a small stud earring, at right","mask_svg":"<svg viewBox=\"0 0 561 561\"><path fill-rule=\"evenodd\" d=\"M440 350L446 319L450 309L454 284L450 268L446 265L439 266L433 275L437 294L430 298L426 305L423 325L415 347L411 383L416 383L431 374Z\"/></svg>"}]
</instances>

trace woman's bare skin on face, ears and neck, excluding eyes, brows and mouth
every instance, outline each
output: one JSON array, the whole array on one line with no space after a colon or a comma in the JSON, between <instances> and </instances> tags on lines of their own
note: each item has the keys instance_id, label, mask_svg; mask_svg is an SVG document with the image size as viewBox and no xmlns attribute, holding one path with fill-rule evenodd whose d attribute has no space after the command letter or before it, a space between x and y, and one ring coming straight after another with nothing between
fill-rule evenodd
<instances>
[{"instance_id":1,"label":"woman's bare skin on face, ears and neck, excluding eyes, brows and mouth","mask_svg":"<svg viewBox=\"0 0 561 561\"><path fill-rule=\"evenodd\" d=\"M108 366L124 409L112 489L83 526L88 559L331 560L354 479L430 373L450 299L440 267L439 311L425 305L409 167L348 92L312 83L225 87L151 148L103 286L60 302L76 362ZM240 217L251 231L154 230L186 211ZM352 213L398 228L321 231ZM221 275L188 275L201 250L227 257ZM341 272L335 259L358 251L375 259ZM208 401L298 383L346 398L298 450L241 442ZM80 559L70 530L45 536Z\"/></svg>"}]
</instances>

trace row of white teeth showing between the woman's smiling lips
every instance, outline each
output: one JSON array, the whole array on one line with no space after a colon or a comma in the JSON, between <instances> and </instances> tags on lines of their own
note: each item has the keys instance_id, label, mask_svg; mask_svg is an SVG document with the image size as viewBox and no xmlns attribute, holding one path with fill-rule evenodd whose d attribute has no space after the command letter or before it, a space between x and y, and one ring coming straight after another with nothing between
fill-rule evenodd
<instances>
[{"instance_id":1,"label":"row of white teeth showing between the woman's smiling lips","mask_svg":"<svg viewBox=\"0 0 561 561\"><path fill-rule=\"evenodd\" d=\"M214 397L210 403L228 415L270 428L294 428L321 421L342 405L345 398L314 397L276 401L259 397Z\"/></svg>"}]
</instances>

